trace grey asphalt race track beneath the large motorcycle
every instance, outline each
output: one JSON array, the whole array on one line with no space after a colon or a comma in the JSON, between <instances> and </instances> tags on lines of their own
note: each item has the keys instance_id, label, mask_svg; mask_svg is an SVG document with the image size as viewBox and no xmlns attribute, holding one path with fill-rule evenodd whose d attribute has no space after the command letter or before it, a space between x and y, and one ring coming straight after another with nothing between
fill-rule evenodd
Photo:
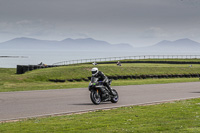
<instances>
[{"instance_id":1,"label":"grey asphalt race track beneath the large motorcycle","mask_svg":"<svg viewBox=\"0 0 200 133\"><path fill-rule=\"evenodd\" d=\"M0 93L0 121L200 97L200 82L114 86L119 102L94 105L88 88Z\"/></svg>"}]
</instances>

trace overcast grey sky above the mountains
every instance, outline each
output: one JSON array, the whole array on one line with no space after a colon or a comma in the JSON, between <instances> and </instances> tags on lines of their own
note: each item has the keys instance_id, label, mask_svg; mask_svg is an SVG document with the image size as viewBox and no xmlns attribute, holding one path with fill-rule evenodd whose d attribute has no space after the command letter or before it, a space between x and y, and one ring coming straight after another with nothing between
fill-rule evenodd
<instances>
[{"instance_id":1,"label":"overcast grey sky above the mountains","mask_svg":"<svg viewBox=\"0 0 200 133\"><path fill-rule=\"evenodd\" d=\"M135 47L200 42L200 0L0 0L0 42L93 38Z\"/></svg>"}]
</instances>

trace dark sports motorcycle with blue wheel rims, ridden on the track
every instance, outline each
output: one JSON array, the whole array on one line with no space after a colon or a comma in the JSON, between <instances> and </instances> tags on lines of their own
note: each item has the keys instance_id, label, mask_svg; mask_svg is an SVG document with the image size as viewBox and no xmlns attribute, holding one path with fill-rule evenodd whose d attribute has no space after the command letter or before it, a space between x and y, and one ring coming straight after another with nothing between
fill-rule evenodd
<instances>
[{"instance_id":1,"label":"dark sports motorcycle with blue wheel rims, ridden on the track","mask_svg":"<svg viewBox=\"0 0 200 133\"><path fill-rule=\"evenodd\" d=\"M112 80L109 80L109 85ZM111 101L112 103L117 103L119 100L119 95L115 89L112 89L114 96L110 94L109 89L103 85L102 81L98 81L98 78L92 77L89 83L90 99L91 101L99 105L101 102Z\"/></svg>"}]
</instances>

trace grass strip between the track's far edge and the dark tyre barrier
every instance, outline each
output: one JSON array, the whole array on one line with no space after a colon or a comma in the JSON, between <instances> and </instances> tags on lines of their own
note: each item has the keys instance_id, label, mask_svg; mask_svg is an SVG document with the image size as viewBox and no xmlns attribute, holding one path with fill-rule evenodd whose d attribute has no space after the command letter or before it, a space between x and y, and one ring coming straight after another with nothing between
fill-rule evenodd
<instances>
[{"instance_id":1,"label":"grass strip between the track's far edge and the dark tyre barrier","mask_svg":"<svg viewBox=\"0 0 200 133\"><path fill-rule=\"evenodd\" d=\"M113 80L111 86L125 85L143 85L143 84L166 84L166 83L183 83L199 82L199 78L170 78L170 79L137 79L137 80ZM31 91L31 90L49 90L49 89L69 89L69 88L87 88L88 82L4 82L0 83L0 92L10 91Z\"/></svg>"}]
</instances>

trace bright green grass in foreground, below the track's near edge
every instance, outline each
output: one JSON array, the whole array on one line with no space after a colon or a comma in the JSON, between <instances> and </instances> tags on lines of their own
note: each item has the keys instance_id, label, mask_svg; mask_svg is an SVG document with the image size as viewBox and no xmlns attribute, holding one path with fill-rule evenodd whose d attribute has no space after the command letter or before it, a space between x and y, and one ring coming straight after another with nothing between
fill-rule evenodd
<instances>
[{"instance_id":1,"label":"bright green grass in foreground, below the track's near edge","mask_svg":"<svg viewBox=\"0 0 200 133\"><path fill-rule=\"evenodd\" d=\"M200 132L200 99L0 123L1 133Z\"/></svg>"}]
</instances>

